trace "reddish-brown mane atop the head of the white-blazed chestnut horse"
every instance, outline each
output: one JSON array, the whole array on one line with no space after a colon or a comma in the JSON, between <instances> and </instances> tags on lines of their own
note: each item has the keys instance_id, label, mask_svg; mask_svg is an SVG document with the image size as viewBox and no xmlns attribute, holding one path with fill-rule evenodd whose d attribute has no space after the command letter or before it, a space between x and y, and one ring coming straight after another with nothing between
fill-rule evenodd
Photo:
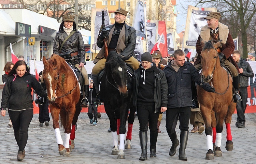
<instances>
[{"instance_id":1,"label":"reddish-brown mane atop the head of the white-blazed chestnut horse","mask_svg":"<svg viewBox=\"0 0 256 164\"><path fill-rule=\"evenodd\" d=\"M56 68L57 68L57 69L60 69L61 66L63 66L63 65L65 64L65 60L64 60L63 58L61 58L59 55L53 54L52 57L47 60L47 63L48 63L48 64L45 65L44 70L45 70L46 72L49 72L49 71L55 69L55 66L54 66L54 59L57 61L57 62L56 62L56 64L57 64L57 65L56 65Z\"/></svg>"}]
</instances>

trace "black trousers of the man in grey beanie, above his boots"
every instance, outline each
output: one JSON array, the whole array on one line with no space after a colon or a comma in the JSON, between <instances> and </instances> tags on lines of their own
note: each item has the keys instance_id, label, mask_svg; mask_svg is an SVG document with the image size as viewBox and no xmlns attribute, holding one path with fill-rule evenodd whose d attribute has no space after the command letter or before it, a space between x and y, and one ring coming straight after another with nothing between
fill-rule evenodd
<instances>
[{"instance_id":1,"label":"black trousers of the man in grey beanie, above his boots","mask_svg":"<svg viewBox=\"0 0 256 164\"><path fill-rule=\"evenodd\" d=\"M159 114L159 112L155 113L155 105L137 105L140 131L147 132L149 124L150 132L157 133L157 121Z\"/></svg>"}]
</instances>

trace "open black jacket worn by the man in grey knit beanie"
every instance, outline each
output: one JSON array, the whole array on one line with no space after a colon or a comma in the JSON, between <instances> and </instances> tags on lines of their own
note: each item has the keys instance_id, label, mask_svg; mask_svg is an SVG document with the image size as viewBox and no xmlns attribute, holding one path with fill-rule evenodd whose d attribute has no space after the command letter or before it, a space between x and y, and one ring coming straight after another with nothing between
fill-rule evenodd
<instances>
[{"instance_id":1,"label":"open black jacket worn by the man in grey knit beanie","mask_svg":"<svg viewBox=\"0 0 256 164\"><path fill-rule=\"evenodd\" d=\"M152 65L154 71L154 99L155 99L155 113L160 111L161 107L167 107L167 81L165 73L162 70L156 68L156 64ZM142 72L143 71L143 72ZM133 105L137 107L137 97L139 89L139 78L145 78L145 71L140 64L140 68L133 72L132 75L132 88L133 88ZM147 81L145 81L146 83Z\"/></svg>"}]
</instances>

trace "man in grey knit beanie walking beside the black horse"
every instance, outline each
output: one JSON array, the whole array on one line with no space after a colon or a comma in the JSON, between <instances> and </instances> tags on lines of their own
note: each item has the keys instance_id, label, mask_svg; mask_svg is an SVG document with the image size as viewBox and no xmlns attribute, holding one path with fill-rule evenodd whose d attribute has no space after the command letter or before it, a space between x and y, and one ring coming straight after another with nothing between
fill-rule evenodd
<instances>
[{"instance_id":1,"label":"man in grey knit beanie walking beside the black horse","mask_svg":"<svg viewBox=\"0 0 256 164\"><path fill-rule=\"evenodd\" d=\"M128 86L129 87L129 86ZM165 73L152 63L152 56L141 55L140 68L132 76L133 104L140 122L140 160L147 160L147 128L150 128L150 157L156 157L157 121L160 112L167 109L168 86Z\"/></svg>"}]
</instances>

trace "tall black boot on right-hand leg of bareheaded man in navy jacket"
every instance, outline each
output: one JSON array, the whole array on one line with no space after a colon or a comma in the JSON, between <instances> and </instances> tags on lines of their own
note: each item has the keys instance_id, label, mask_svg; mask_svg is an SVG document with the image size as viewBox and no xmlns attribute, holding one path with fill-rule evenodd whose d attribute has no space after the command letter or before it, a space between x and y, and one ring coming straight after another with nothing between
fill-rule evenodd
<instances>
[{"instance_id":1,"label":"tall black boot on right-hand leg of bareheaded man in navy jacket","mask_svg":"<svg viewBox=\"0 0 256 164\"><path fill-rule=\"evenodd\" d=\"M187 161L186 157L186 147L187 147L187 139L188 139L188 131L181 131L180 141L180 153L179 153L179 160Z\"/></svg>"}]
</instances>

